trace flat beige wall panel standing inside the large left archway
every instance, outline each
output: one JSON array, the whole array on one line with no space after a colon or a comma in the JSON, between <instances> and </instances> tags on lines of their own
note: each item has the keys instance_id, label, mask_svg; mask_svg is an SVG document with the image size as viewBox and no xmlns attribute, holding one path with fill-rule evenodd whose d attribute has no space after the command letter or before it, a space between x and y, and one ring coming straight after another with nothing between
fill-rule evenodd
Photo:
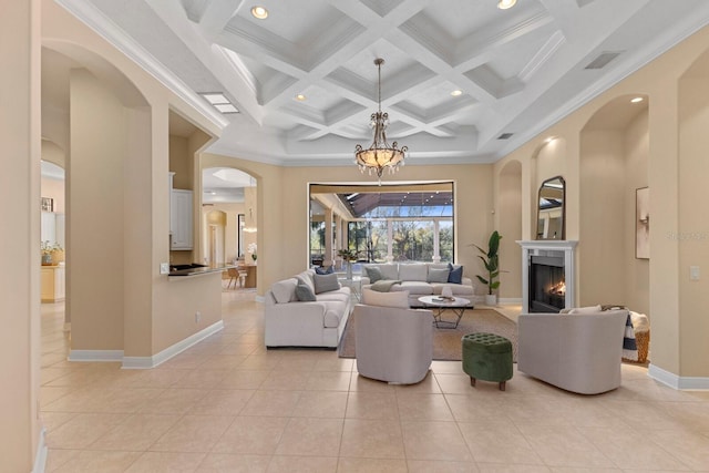
<instances>
[{"instance_id":1,"label":"flat beige wall panel standing inside the large left archway","mask_svg":"<svg viewBox=\"0 0 709 473\"><path fill-rule=\"evenodd\" d=\"M66 279L81 295L66 302L72 350L122 350L127 121L123 104L85 69L72 71L70 89Z\"/></svg>"}]
</instances>

